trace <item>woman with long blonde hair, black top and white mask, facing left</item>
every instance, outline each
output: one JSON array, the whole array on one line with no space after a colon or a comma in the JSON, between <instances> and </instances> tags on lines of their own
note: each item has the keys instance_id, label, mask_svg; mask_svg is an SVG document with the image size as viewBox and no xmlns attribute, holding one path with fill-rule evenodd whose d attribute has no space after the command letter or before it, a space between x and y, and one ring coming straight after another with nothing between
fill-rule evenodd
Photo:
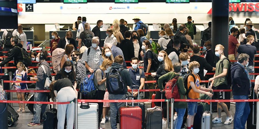
<instances>
[{"instance_id":1,"label":"woman with long blonde hair, black top and white mask, facing left","mask_svg":"<svg viewBox=\"0 0 259 129\"><path fill-rule=\"evenodd\" d=\"M158 61L160 61L159 67L157 69L157 72L151 73L152 77L155 77L157 84L158 84L158 79L162 75L165 75L166 73L173 71L173 64L170 58L168 57L167 53L165 51L160 51L158 54ZM162 83L163 87L165 87L165 81ZM155 99L161 99L161 94L162 94L162 99L165 98L165 93L161 93L160 91L156 92ZM161 103L155 102L156 106L161 107ZM162 108L163 108L163 124L166 124L166 103L162 103Z\"/></svg>"}]
</instances>

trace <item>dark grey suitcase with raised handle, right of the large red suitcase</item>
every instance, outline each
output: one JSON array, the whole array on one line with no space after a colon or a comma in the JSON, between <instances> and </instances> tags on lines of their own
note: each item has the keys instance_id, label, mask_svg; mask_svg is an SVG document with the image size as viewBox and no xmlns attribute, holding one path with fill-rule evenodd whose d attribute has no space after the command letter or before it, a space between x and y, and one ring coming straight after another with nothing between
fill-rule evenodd
<instances>
[{"instance_id":1,"label":"dark grey suitcase with raised handle, right of the large red suitcase","mask_svg":"<svg viewBox=\"0 0 259 129\"><path fill-rule=\"evenodd\" d=\"M162 95L161 94L161 99L162 99ZM162 102L161 102L162 105ZM146 129L158 129L158 128L162 128L162 119L163 119L163 115L162 115L162 107L153 107L153 108L148 108L147 109L147 113L146 113Z\"/></svg>"}]
</instances>

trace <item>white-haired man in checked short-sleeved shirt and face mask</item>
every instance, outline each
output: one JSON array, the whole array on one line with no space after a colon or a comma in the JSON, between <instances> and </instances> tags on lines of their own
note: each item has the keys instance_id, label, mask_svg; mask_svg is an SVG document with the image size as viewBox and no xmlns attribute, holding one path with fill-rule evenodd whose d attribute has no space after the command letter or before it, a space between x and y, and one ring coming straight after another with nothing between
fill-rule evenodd
<instances>
[{"instance_id":1,"label":"white-haired man in checked short-sleeved shirt and face mask","mask_svg":"<svg viewBox=\"0 0 259 129\"><path fill-rule=\"evenodd\" d=\"M92 46L83 53L82 60L85 61L86 73L94 73L94 70L99 68L102 58L102 48L99 44L99 37L93 37Z\"/></svg>"}]
</instances>

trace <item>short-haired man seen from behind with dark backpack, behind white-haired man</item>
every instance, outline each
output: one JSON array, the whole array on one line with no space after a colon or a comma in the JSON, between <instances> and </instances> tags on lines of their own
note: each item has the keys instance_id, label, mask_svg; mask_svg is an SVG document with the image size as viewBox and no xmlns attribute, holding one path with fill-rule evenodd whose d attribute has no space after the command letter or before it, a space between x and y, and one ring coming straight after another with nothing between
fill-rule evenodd
<instances>
[{"instance_id":1,"label":"short-haired man seen from behind with dark backpack, behind white-haired man","mask_svg":"<svg viewBox=\"0 0 259 129\"><path fill-rule=\"evenodd\" d=\"M85 23L85 30L80 33L79 36L79 41L78 41L78 47L79 49L82 46L82 43L84 44L83 46L86 46L89 48L92 45L92 38L94 37L94 33L90 30L90 24Z\"/></svg>"}]
</instances>

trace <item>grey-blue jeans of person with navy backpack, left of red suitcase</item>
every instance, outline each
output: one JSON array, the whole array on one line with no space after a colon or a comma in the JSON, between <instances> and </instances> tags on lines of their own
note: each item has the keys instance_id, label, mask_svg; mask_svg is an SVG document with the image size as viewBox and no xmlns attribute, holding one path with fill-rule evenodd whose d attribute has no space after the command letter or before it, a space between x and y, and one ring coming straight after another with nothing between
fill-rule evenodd
<instances>
[{"instance_id":1,"label":"grey-blue jeans of person with navy backpack, left of red suitcase","mask_svg":"<svg viewBox=\"0 0 259 129\"><path fill-rule=\"evenodd\" d=\"M125 95L113 95L109 94L109 100L124 100L126 99ZM111 128L117 129L116 116L120 107L125 106L126 103L110 103L111 109Z\"/></svg>"}]
</instances>

